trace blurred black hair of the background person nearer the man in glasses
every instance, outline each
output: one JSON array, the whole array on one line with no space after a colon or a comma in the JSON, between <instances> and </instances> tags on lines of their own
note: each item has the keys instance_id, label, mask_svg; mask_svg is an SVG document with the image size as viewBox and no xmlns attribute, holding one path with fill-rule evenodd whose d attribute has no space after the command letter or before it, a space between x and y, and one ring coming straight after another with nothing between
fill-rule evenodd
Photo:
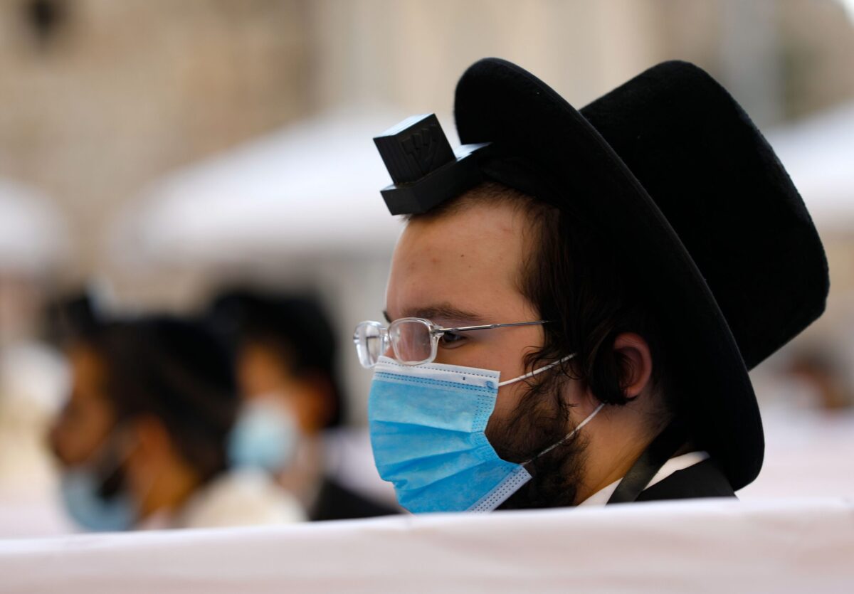
<instances>
[{"instance_id":1,"label":"blurred black hair of the background person nearer the man in glasses","mask_svg":"<svg viewBox=\"0 0 854 594\"><path fill-rule=\"evenodd\" d=\"M331 396L325 428L342 424L346 411L336 373L336 335L319 298L230 289L214 298L208 320L232 348L249 342L262 344L278 353L293 376L321 376L328 382Z\"/></svg>"}]
</instances>

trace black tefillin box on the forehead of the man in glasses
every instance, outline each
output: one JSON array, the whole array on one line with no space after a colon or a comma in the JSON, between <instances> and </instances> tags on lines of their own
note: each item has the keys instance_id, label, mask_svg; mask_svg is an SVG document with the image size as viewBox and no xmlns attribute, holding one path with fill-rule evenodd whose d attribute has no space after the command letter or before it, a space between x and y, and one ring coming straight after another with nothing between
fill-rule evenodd
<instances>
[{"instance_id":1,"label":"black tefillin box on the forehead of the man in glasses","mask_svg":"<svg viewBox=\"0 0 854 594\"><path fill-rule=\"evenodd\" d=\"M480 183L477 161L489 146L465 144L454 152L436 114L404 119L374 143L393 182L381 190L392 214L426 213Z\"/></svg>"}]
</instances>

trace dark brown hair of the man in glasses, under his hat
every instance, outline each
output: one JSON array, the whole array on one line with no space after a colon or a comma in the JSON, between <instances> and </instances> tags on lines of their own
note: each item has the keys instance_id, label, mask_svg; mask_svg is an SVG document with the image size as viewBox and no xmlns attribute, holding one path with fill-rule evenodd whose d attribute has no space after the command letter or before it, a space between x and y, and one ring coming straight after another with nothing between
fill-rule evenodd
<instances>
[{"instance_id":1,"label":"dark brown hair of the man in glasses, under his hat","mask_svg":"<svg viewBox=\"0 0 854 594\"><path fill-rule=\"evenodd\" d=\"M529 255L519 271L518 289L542 319L545 341L531 353L529 370L564 358L564 373L541 374L529 381L532 393L556 394L567 377L584 382L600 402L625 405L624 375L628 361L613 350L617 335L635 332L652 353L653 385L664 399L670 395L663 337L643 296L632 291L633 275L596 225L569 208L557 208L517 189L484 182L423 215L442 217L474 204L504 202L529 220ZM672 410L672 403L665 402ZM565 411L564 411L565 412Z\"/></svg>"}]
</instances>

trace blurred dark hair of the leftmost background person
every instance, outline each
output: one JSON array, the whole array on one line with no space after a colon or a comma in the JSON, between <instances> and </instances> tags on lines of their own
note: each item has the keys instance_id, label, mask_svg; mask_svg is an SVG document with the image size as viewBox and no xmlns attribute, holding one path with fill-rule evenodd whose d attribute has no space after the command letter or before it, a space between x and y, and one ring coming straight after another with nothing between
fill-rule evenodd
<instances>
[{"instance_id":1,"label":"blurred dark hair of the leftmost background person","mask_svg":"<svg viewBox=\"0 0 854 594\"><path fill-rule=\"evenodd\" d=\"M117 424L154 416L202 481L225 469L237 391L224 349L201 323L172 317L102 323L79 343L105 365Z\"/></svg>"}]
</instances>

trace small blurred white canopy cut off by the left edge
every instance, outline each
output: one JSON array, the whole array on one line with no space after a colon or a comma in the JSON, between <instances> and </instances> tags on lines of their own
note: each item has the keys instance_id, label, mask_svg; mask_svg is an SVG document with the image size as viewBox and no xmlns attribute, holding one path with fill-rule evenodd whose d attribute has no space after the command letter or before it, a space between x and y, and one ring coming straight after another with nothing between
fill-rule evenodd
<instances>
[{"instance_id":1,"label":"small blurred white canopy cut off by the left edge","mask_svg":"<svg viewBox=\"0 0 854 594\"><path fill-rule=\"evenodd\" d=\"M0 179L0 270L44 271L65 255L62 219L44 195Z\"/></svg>"}]
</instances>

